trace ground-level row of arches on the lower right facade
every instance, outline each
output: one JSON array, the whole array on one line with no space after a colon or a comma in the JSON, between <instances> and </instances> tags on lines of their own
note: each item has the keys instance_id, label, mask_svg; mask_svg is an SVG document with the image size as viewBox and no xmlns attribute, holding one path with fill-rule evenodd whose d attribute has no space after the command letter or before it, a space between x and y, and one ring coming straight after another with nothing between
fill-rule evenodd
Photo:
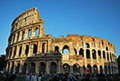
<instances>
[{"instance_id":1,"label":"ground-level row of arches on the lower right facade","mask_svg":"<svg viewBox=\"0 0 120 81\"><path fill-rule=\"evenodd\" d=\"M65 72L70 72L70 65L69 64L63 64L63 68L64 68L64 71ZM93 74L111 74L111 73L114 73L113 71L115 70L115 68L113 66L110 66L110 65L100 65L100 66L97 66L97 65L90 65L88 64L86 67L85 65L83 65L83 67L81 67L79 64L74 64L72 66L72 70L73 70L73 73L81 73L83 71L83 73L93 73ZM98 69L99 67L99 69Z\"/></svg>"}]
</instances>

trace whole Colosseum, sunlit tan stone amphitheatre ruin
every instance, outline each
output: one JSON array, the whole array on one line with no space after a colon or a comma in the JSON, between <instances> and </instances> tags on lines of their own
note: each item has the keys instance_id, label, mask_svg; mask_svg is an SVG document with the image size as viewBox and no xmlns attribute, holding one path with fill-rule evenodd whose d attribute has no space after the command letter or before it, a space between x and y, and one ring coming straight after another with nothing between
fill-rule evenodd
<instances>
[{"instance_id":1,"label":"whole Colosseum, sunlit tan stone amphitheatre ruin","mask_svg":"<svg viewBox=\"0 0 120 81\"><path fill-rule=\"evenodd\" d=\"M115 46L108 40L83 35L47 35L36 8L13 22L6 49L9 73L116 74Z\"/></svg>"}]
</instances>

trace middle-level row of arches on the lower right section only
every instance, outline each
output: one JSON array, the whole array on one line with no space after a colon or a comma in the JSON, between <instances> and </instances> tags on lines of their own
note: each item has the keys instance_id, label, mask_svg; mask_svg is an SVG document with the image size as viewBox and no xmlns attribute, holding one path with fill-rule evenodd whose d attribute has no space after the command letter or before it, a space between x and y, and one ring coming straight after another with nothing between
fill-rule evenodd
<instances>
[{"instance_id":1,"label":"middle-level row of arches on the lower right section only","mask_svg":"<svg viewBox=\"0 0 120 81\"><path fill-rule=\"evenodd\" d=\"M87 47L89 47L89 45L87 45ZM59 47L58 46L55 46L55 52L60 52L59 51ZM62 48L62 54L69 54L70 53L70 48L69 46L65 45L63 46ZM77 50L74 48L74 53L77 55ZM90 58L93 58L93 59L97 59L97 55L98 55L98 58L103 58L103 59L107 59L107 60L112 60L112 53L108 53L108 52L105 52L105 51L101 51L101 50L96 50L96 49L83 49L83 48L80 48L79 50L79 55L84 57L86 54L86 58L90 59ZM92 57L91 57L91 54L92 54Z\"/></svg>"}]
</instances>

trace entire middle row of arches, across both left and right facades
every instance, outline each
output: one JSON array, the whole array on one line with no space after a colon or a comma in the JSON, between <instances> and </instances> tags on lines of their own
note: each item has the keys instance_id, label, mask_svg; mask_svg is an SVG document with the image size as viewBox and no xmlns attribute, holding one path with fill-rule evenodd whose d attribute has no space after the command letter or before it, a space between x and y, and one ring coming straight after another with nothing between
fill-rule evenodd
<instances>
[{"instance_id":1,"label":"entire middle row of arches, across both left and right facades","mask_svg":"<svg viewBox=\"0 0 120 81\"><path fill-rule=\"evenodd\" d=\"M47 45L46 45L46 43L43 43L42 44L42 53L45 53L46 52L46 50L47 50L47 47L46 47ZM9 57L11 57L11 53L13 53L13 58L16 56L16 53L17 53L17 50L19 51L19 54L18 54L18 56L21 56L21 54L22 54L22 51L25 51L25 55L26 56L28 56L28 54L29 54L29 50L30 50L30 45L26 45L25 46L25 50L22 50L23 49L23 46L21 45L21 46L19 46L19 49L17 49L18 47L17 46L15 46L14 47L14 50L13 49L10 49L9 51L9 54L10 54L10 56ZM37 52L38 52L38 44L37 43L35 43L35 44L33 44L33 48L32 48L32 50L33 50L33 54L37 54ZM12 52L13 51L13 52ZM60 51L59 51L59 47L58 46L55 46L55 52L57 52L57 53L60 53ZM63 48L62 48L62 54L69 54L70 53L70 48L67 46L67 45L65 45ZM76 55L78 55L78 53L77 53L77 50L74 48L74 53L76 54ZM93 59L97 59L97 58L103 58L103 59L107 59L107 60L113 60L113 55L112 55L112 53L108 53L108 52L105 52L105 51L101 51L101 50L95 50L95 49L92 49L92 50L90 50L90 49L83 49L83 48L80 48L80 50L79 50L79 55L80 56L82 56L82 57L84 57L85 56L85 54L86 54L86 58L87 59L90 59L90 58L93 58Z\"/></svg>"}]
</instances>

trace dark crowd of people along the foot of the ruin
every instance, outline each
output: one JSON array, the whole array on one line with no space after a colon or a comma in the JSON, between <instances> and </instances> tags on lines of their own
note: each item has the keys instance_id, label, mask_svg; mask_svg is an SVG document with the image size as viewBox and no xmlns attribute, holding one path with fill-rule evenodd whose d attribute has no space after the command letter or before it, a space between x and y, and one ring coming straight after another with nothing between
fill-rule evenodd
<instances>
[{"instance_id":1,"label":"dark crowd of people along the foot of the ruin","mask_svg":"<svg viewBox=\"0 0 120 81\"><path fill-rule=\"evenodd\" d=\"M57 74L9 74L0 73L0 81L120 81L119 75L79 75L72 73Z\"/></svg>"}]
</instances>

